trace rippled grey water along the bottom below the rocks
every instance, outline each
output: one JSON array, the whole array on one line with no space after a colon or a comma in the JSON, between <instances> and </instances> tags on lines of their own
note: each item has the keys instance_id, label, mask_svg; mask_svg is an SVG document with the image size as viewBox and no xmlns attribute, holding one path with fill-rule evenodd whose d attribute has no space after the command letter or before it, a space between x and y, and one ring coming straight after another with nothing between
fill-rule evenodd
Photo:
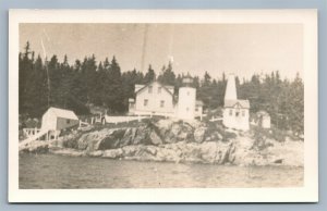
<instances>
[{"instance_id":1,"label":"rippled grey water along the bottom below the rocks","mask_svg":"<svg viewBox=\"0 0 327 211\"><path fill-rule=\"evenodd\" d=\"M303 167L221 166L20 156L20 188L294 187Z\"/></svg>"}]
</instances>

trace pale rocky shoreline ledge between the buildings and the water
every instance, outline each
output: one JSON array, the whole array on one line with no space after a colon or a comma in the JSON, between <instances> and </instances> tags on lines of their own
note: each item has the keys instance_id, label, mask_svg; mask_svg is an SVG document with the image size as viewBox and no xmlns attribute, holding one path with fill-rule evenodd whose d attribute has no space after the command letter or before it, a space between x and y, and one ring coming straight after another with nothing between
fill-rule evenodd
<instances>
[{"instance_id":1,"label":"pale rocky shoreline ledge between the buildings and the water","mask_svg":"<svg viewBox=\"0 0 327 211\"><path fill-rule=\"evenodd\" d=\"M137 127L98 128L70 133L58 140L33 141L20 153L210 163L303 166L304 142L278 141L253 132L228 132L218 124L150 121Z\"/></svg>"}]
</instances>

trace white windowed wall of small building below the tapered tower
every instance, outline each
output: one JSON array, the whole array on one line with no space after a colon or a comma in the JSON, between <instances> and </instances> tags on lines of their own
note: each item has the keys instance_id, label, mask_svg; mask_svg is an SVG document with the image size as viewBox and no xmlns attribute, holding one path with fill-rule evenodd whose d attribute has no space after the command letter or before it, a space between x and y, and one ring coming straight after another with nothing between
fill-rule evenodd
<instances>
[{"instance_id":1,"label":"white windowed wall of small building below the tapered tower","mask_svg":"<svg viewBox=\"0 0 327 211\"><path fill-rule=\"evenodd\" d=\"M237 116L237 112L239 115ZM243 115L244 114L244 115ZM249 109L234 109L225 108L223 109L223 125L229 128L249 131Z\"/></svg>"}]
</instances>

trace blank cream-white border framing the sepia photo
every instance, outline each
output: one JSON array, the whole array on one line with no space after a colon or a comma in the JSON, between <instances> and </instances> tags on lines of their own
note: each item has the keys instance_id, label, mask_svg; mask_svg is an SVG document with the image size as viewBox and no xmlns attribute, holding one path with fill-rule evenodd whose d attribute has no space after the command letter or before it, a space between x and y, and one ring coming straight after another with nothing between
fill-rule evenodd
<instances>
[{"instance_id":1,"label":"blank cream-white border framing the sepia photo","mask_svg":"<svg viewBox=\"0 0 327 211\"><path fill-rule=\"evenodd\" d=\"M299 188L19 188L20 23L299 23L304 28L304 186ZM315 202L318 201L316 10L11 10L9 21L10 202Z\"/></svg>"}]
</instances>

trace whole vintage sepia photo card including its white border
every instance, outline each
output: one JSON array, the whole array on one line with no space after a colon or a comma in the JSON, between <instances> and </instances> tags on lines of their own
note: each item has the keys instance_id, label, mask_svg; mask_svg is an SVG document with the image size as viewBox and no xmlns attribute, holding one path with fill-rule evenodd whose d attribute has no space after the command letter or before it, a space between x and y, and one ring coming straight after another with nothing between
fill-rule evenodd
<instances>
[{"instance_id":1,"label":"whole vintage sepia photo card including its white border","mask_svg":"<svg viewBox=\"0 0 327 211\"><path fill-rule=\"evenodd\" d=\"M315 202L316 10L11 10L10 202Z\"/></svg>"}]
</instances>

